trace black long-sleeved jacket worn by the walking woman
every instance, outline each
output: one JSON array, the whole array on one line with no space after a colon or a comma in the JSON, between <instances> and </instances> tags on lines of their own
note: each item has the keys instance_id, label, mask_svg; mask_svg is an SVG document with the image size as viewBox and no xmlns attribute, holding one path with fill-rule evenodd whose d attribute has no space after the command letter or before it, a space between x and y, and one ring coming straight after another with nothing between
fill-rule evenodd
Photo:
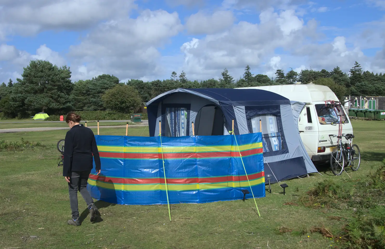
<instances>
[{"instance_id":1,"label":"black long-sleeved jacket worn by the walking woman","mask_svg":"<svg viewBox=\"0 0 385 249\"><path fill-rule=\"evenodd\" d=\"M99 170L100 157L94 132L83 125L75 125L65 135L63 176L71 176L72 171L92 169L92 155L95 159L96 170Z\"/></svg>"}]
</instances>

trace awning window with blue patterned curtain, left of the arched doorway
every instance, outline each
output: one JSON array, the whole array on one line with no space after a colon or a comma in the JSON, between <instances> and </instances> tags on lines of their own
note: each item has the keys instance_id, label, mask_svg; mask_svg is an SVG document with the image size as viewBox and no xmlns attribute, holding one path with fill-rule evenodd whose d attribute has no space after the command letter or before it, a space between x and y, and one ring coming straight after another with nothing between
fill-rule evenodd
<instances>
[{"instance_id":1,"label":"awning window with blue patterned curtain, left of the arched doorway","mask_svg":"<svg viewBox=\"0 0 385 249\"><path fill-rule=\"evenodd\" d=\"M166 108L166 136L186 136L187 108Z\"/></svg>"}]
</instances>

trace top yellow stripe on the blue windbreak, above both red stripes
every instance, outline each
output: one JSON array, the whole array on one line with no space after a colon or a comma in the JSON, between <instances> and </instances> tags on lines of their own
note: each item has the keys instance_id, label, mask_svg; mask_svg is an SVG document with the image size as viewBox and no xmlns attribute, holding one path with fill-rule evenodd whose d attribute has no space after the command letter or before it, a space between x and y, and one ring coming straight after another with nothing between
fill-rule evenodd
<instances>
[{"instance_id":1,"label":"top yellow stripe on the blue windbreak, above both red stripes","mask_svg":"<svg viewBox=\"0 0 385 249\"><path fill-rule=\"evenodd\" d=\"M128 152L128 153L162 153L159 147L135 147L135 146L97 146L99 151L106 152ZM248 149L262 148L262 143L245 144L239 146L241 151ZM236 151L236 146L187 146L187 147L164 147L163 153L189 153L189 152L221 152L221 151Z\"/></svg>"}]
</instances>

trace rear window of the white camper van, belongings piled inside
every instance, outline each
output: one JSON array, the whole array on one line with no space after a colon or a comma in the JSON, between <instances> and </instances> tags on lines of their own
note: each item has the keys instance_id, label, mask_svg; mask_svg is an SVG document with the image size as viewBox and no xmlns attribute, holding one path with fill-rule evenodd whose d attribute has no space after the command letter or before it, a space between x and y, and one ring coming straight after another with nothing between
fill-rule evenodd
<instances>
[{"instance_id":1,"label":"rear window of the white camper van, belongings piled inside","mask_svg":"<svg viewBox=\"0 0 385 249\"><path fill-rule=\"evenodd\" d=\"M340 105L334 108L330 105L316 104L315 110L321 125L338 124L340 122L348 123L348 119Z\"/></svg>"}]
</instances>

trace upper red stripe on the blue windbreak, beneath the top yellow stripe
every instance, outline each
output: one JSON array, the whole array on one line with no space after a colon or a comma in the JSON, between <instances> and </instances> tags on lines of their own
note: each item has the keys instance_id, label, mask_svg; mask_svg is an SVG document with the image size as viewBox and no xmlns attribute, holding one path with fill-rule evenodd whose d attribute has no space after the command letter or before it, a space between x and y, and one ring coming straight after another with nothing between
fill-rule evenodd
<instances>
[{"instance_id":1,"label":"upper red stripe on the blue windbreak, beneath the top yellow stripe","mask_svg":"<svg viewBox=\"0 0 385 249\"><path fill-rule=\"evenodd\" d=\"M251 156L263 153L262 148L250 149L242 151L242 156ZM119 159L159 159L162 158L161 153L120 153L120 152L99 152L103 158L119 158ZM164 159L182 159L182 158L223 158L223 157L239 157L238 151L225 152L201 152L201 153L164 153Z\"/></svg>"}]
</instances>

